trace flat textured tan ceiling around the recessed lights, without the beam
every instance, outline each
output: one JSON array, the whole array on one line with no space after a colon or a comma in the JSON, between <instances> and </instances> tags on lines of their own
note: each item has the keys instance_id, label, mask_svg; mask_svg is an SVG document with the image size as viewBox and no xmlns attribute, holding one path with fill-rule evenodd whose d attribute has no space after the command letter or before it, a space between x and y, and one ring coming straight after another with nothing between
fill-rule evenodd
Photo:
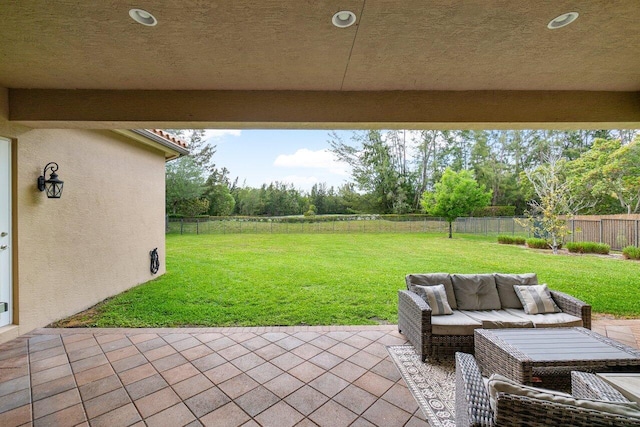
<instances>
[{"instance_id":1,"label":"flat textured tan ceiling around the recessed lights, without the beam","mask_svg":"<svg viewBox=\"0 0 640 427\"><path fill-rule=\"evenodd\" d=\"M158 25L134 22L132 7ZM331 16L344 9L357 22L339 29ZM576 22L547 29L571 11ZM0 3L0 16L0 87L16 99L36 93L21 89L65 90L37 92L44 98L76 89L613 91L630 94L632 111L640 102L638 0L20 0Z\"/></svg>"}]
</instances>

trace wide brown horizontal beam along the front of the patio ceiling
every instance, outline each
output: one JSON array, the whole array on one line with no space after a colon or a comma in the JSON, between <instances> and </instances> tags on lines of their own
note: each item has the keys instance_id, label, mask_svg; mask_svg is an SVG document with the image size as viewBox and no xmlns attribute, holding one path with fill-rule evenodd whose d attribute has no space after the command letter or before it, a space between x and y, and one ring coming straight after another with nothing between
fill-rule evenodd
<instances>
[{"instance_id":1,"label":"wide brown horizontal beam along the front of the patio ceiling","mask_svg":"<svg viewBox=\"0 0 640 427\"><path fill-rule=\"evenodd\" d=\"M9 89L39 128L640 128L640 92Z\"/></svg>"}]
</instances>

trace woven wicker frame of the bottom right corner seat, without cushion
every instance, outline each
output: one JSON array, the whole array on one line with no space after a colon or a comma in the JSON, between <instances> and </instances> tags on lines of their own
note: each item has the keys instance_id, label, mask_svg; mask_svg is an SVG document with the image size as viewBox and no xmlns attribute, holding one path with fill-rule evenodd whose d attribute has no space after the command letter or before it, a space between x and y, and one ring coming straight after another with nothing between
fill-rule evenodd
<instances>
[{"instance_id":1,"label":"woven wicker frame of the bottom right corner seat, without cushion","mask_svg":"<svg viewBox=\"0 0 640 427\"><path fill-rule=\"evenodd\" d=\"M588 375L588 374L587 374ZM597 377L599 400L628 402ZM577 396L581 397L581 396ZM489 405L480 369L470 354L456 353L456 426L640 426L640 418L579 408L557 402L498 393L497 414Z\"/></svg>"}]
</instances>

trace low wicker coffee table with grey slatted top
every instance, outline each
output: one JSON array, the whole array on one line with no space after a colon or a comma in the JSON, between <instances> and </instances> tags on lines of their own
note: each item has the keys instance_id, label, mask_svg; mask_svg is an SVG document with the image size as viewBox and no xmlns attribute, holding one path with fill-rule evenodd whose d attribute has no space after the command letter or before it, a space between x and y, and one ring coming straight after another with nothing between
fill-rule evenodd
<instances>
[{"instance_id":1,"label":"low wicker coffee table with grey slatted top","mask_svg":"<svg viewBox=\"0 0 640 427\"><path fill-rule=\"evenodd\" d=\"M585 328L476 329L475 356L484 376L571 389L571 371L640 372L640 351Z\"/></svg>"}]
</instances>

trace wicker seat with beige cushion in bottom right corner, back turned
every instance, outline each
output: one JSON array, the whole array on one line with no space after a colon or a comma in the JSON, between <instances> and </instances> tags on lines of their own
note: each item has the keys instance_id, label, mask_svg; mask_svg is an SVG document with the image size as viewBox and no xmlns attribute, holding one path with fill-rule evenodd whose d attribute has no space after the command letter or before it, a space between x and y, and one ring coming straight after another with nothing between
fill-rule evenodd
<instances>
[{"instance_id":1,"label":"wicker seat with beige cushion in bottom right corner, back turned","mask_svg":"<svg viewBox=\"0 0 640 427\"><path fill-rule=\"evenodd\" d=\"M597 394L562 395L518 384L507 384L505 391L493 386L493 377L485 383L472 355L457 353L456 426L640 426L637 404L593 374L581 372L578 378Z\"/></svg>"}]
</instances>

